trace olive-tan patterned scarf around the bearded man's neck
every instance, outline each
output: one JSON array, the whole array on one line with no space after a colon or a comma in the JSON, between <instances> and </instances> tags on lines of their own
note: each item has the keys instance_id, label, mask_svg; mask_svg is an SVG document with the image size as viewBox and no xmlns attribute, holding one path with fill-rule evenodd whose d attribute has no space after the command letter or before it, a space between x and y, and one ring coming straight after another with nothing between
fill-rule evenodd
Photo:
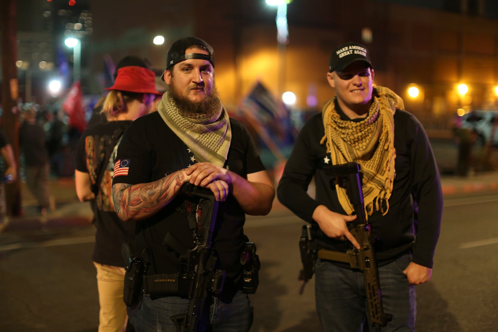
<instances>
[{"instance_id":1,"label":"olive-tan patterned scarf around the bearded man's neck","mask_svg":"<svg viewBox=\"0 0 498 332\"><path fill-rule=\"evenodd\" d=\"M232 140L225 108L221 107L220 112L212 118L186 117L178 111L175 102L166 92L157 103L157 111L168 127L192 150L197 161L223 167Z\"/></svg>"}]
</instances>

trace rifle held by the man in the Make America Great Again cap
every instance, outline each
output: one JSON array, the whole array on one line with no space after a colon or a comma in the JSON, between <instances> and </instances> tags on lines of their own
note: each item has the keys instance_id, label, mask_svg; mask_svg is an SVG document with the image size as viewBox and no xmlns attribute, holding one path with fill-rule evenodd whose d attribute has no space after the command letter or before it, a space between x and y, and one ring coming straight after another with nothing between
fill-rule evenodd
<instances>
[{"instance_id":1,"label":"rifle held by the man in the Make America Great Again cap","mask_svg":"<svg viewBox=\"0 0 498 332\"><path fill-rule=\"evenodd\" d=\"M363 271L370 319L375 330L380 331L380 327L385 327L392 320L392 315L384 314L382 306L377 262L372 245L373 238L370 234L371 225L365 217L360 165L350 162L327 167L325 174L335 177L335 183L334 180L331 180L331 186L337 184L346 189L357 216L354 221L348 224L348 228L361 248L348 249L346 253L321 249L318 250L318 258L349 263L351 268Z\"/></svg>"}]
</instances>

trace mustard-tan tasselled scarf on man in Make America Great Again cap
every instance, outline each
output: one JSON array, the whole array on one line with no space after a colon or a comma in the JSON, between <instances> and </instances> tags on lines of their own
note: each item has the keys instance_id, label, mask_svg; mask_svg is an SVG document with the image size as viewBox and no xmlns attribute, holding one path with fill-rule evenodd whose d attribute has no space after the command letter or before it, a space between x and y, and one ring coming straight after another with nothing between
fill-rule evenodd
<instances>
[{"instance_id":1,"label":"mustard-tan tasselled scarf on man in Make America Great Again cap","mask_svg":"<svg viewBox=\"0 0 498 332\"><path fill-rule=\"evenodd\" d=\"M320 144L326 143L332 165L347 162L361 165L367 218L372 215L373 209L382 215L389 210L396 157L394 112L396 108L404 110L401 97L387 88L374 87L372 96L369 113L360 122L341 119L335 111L336 97L327 101L322 112L325 135L320 141ZM336 190L341 206L351 215L354 210L346 190L338 185Z\"/></svg>"}]
</instances>

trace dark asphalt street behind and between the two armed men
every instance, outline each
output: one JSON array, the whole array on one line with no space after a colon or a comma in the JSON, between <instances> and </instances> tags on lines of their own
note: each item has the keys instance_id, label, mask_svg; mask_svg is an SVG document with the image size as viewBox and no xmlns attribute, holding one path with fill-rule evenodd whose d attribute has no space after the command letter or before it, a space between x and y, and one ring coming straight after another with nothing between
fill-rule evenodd
<instances>
[{"instance_id":1,"label":"dark asphalt street behind and between the two armed men","mask_svg":"<svg viewBox=\"0 0 498 332\"><path fill-rule=\"evenodd\" d=\"M497 192L445 199L432 279L417 287L416 331L497 330L497 201ZM313 279L298 295L301 224L285 209L246 222L262 265L252 332L321 331ZM0 233L0 331L97 331L94 233L88 224Z\"/></svg>"}]
</instances>

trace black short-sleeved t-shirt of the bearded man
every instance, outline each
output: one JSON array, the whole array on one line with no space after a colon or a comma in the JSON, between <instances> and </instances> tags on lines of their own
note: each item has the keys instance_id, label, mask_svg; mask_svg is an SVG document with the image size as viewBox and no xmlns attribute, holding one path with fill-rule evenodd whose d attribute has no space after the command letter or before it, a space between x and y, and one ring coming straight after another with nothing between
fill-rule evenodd
<instances>
[{"instance_id":1,"label":"black short-sleeved t-shirt of the bearded man","mask_svg":"<svg viewBox=\"0 0 498 332\"><path fill-rule=\"evenodd\" d=\"M226 167L244 178L264 170L248 130L237 120L230 119L230 124L232 141ZM192 164L187 146L169 129L158 112L142 116L130 125L116 159L125 160L128 173L115 176L113 184L153 182ZM184 243L192 241L187 217L176 211L185 200L184 195L177 195L159 213L136 223L137 251L150 248L152 253L149 257L152 262L152 271L148 271L150 274L176 273L179 270L179 258L168 250L163 240L171 231ZM227 271L227 276L233 280L241 273L240 254L246 242L243 230L245 220L244 211L233 195L220 203L213 247L219 256L220 265L217 268Z\"/></svg>"}]
</instances>

